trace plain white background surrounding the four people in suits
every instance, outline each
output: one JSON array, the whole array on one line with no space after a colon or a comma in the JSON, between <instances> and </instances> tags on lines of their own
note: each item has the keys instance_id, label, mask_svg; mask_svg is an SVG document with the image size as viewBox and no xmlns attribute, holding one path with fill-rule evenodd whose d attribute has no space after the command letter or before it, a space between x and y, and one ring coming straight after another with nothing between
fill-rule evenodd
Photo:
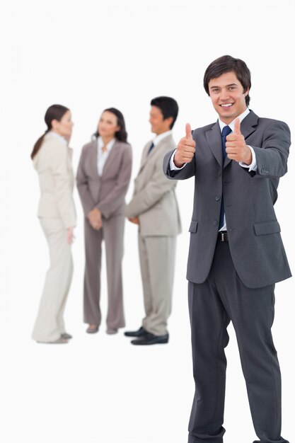
<instances>
[{"instance_id":1,"label":"plain white background surrounding the four people in suits","mask_svg":"<svg viewBox=\"0 0 295 443\"><path fill-rule=\"evenodd\" d=\"M134 347L122 332L97 335L82 322L83 215L78 194L74 279L66 308L69 345L30 339L48 265L37 221L39 190L30 151L45 130L48 106L68 106L75 122L74 170L104 108L125 115L133 146L132 179L151 139L149 103L178 100L174 135L185 122L216 120L202 87L207 65L223 54L252 72L250 108L294 125L294 2L193 0L11 0L1 8L0 440L4 443L180 443L187 441L194 384L187 315L187 229L193 180L178 184L183 234L178 238L170 343ZM279 185L277 217L294 261L294 155ZM127 200L132 195L130 184ZM144 314L137 228L125 230L127 328ZM282 435L294 439L294 280L277 284L273 327L283 375ZM227 347L226 443L255 439L236 338Z\"/></svg>"}]
</instances>

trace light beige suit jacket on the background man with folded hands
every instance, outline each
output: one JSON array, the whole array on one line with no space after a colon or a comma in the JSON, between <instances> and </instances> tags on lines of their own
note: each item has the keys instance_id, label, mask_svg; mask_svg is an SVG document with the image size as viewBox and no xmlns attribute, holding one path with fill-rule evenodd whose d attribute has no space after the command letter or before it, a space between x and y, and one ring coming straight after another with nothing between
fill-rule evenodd
<instances>
[{"instance_id":1,"label":"light beige suit jacket on the background man with folded hands","mask_svg":"<svg viewBox=\"0 0 295 443\"><path fill-rule=\"evenodd\" d=\"M141 236L176 236L181 232L175 181L163 173L163 158L175 149L168 135L148 155L151 142L144 146L141 166L134 180L134 195L125 208L127 217L139 217Z\"/></svg>"}]
</instances>

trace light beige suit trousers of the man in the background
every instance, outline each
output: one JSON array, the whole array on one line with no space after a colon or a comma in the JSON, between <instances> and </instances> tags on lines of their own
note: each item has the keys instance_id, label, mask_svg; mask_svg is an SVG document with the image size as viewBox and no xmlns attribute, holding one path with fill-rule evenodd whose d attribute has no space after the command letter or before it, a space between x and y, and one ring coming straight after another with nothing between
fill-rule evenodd
<instances>
[{"instance_id":1,"label":"light beige suit trousers of the man in the background","mask_svg":"<svg viewBox=\"0 0 295 443\"><path fill-rule=\"evenodd\" d=\"M171 313L176 237L139 234L139 260L146 316L142 326L154 335L167 333Z\"/></svg>"}]
</instances>

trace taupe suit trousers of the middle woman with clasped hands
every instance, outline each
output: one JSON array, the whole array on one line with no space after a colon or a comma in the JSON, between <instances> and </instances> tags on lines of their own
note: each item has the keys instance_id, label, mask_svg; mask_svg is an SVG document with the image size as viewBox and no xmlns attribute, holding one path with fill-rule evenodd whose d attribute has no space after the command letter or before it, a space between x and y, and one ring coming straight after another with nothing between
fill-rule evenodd
<instances>
[{"instance_id":1,"label":"taupe suit trousers of the middle woman with clasped hands","mask_svg":"<svg viewBox=\"0 0 295 443\"><path fill-rule=\"evenodd\" d=\"M108 328L123 328L122 258L125 217L103 218L103 227L96 231L85 219L84 321L100 326L101 245L105 241L108 277Z\"/></svg>"}]
</instances>

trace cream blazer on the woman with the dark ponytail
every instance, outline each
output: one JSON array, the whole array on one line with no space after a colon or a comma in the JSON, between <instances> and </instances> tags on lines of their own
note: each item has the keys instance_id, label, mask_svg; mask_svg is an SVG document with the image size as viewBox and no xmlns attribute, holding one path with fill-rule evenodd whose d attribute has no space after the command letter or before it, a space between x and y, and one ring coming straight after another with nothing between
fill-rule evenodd
<instances>
[{"instance_id":1,"label":"cream blazer on the woman with the dark ponytail","mask_svg":"<svg viewBox=\"0 0 295 443\"><path fill-rule=\"evenodd\" d=\"M37 215L62 219L65 228L76 226L71 157L71 148L47 134L33 159L41 191Z\"/></svg>"}]
</instances>

